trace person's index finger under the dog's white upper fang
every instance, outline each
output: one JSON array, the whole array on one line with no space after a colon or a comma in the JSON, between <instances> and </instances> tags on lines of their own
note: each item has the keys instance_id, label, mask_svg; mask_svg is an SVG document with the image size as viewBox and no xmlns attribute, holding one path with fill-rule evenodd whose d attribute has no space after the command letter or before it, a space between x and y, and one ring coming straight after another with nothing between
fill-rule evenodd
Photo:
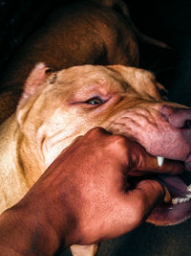
<instances>
[{"instance_id":1,"label":"person's index finger under the dog's white upper fang","mask_svg":"<svg viewBox=\"0 0 191 256\"><path fill-rule=\"evenodd\" d=\"M99 144L101 140L107 139L108 151L112 151L116 159L126 164L129 175L180 175L184 169L182 162L162 157L159 162L159 157L145 151L137 142L123 135L111 134L104 128L92 128L84 137L91 138Z\"/></svg>"}]
</instances>

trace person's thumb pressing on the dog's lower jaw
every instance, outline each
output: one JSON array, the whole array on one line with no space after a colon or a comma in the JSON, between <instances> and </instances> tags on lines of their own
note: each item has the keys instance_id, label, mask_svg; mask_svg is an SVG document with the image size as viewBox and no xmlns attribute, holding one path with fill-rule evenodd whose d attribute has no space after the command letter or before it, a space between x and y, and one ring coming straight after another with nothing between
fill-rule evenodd
<instances>
[{"instance_id":1,"label":"person's thumb pressing on the dog's lower jaw","mask_svg":"<svg viewBox=\"0 0 191 256\"><path fill-rule=\"evenodd\" d=\"M111 219L113 228L104 239L112 239L137 228L152 209L165 197L165 190L156 180L142 180L137 187L116 203L117 218Z\"/></svg>"}]
</instances>

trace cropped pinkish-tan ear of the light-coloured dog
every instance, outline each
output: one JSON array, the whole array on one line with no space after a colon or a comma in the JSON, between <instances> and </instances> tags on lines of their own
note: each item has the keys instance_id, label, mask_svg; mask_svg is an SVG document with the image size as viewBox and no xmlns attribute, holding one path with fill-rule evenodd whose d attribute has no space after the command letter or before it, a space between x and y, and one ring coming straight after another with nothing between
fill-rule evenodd
<instances>
[{"instance_id":1,"label":"cropped pinkish-tan ear of the light-coloured dog","mask_svg":"<svg viewBox=\"0 0 191 256\"><path fill-rule=\"evenodd\" d=\"M23 93L17 107L23 105L26 100L35 93L39 85L50 75L50 72L51 69L42 62L34 66L30 76L25 82Z\"/></svg>"}]
</instances>

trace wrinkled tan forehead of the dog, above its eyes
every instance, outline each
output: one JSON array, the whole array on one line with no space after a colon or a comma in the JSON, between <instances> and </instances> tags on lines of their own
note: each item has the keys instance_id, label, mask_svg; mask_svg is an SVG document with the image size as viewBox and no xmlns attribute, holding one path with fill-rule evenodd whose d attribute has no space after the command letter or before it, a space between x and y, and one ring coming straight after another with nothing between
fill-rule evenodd
<instances>
[{"instance_id":1,"label":"wrinkled tan forehead of the dog, above its eyes","mask_svg":"<svg viewBox=\"0 0 191 256\"><path fill-rule=\"evenodd\" d=\"M159 89L163 88L151 72L122 65L71 67L58 72L57 83L73 86L74 90L95 86L109 91L125 92L132 88L138 95L156 100L160 99Z\"/></svg>"}]
</instances>

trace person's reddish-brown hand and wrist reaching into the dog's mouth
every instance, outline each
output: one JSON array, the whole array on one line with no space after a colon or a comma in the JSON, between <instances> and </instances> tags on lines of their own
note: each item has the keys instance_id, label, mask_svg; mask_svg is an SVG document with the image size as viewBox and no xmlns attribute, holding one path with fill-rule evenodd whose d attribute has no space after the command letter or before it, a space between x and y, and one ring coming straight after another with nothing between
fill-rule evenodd
<instances>
[{"instance_id":1,"label":"person's reddish-brown hand and wrist reaching into the dog's mouth","mask_svg":"<svg viewBox=\"0 0 191 256\"><path fill-rule=\"evenodd\" d=\"M93 244L131 231L164 198L165 190L152 179L127 189L129 175L156 169L169 173L175 165L166 161L159 168L156 157L136 142L91 129L0 216L2 255L53 255L72 244ZM177 165L176 170L179 174Z\"/></svg>"}]
</instances>

